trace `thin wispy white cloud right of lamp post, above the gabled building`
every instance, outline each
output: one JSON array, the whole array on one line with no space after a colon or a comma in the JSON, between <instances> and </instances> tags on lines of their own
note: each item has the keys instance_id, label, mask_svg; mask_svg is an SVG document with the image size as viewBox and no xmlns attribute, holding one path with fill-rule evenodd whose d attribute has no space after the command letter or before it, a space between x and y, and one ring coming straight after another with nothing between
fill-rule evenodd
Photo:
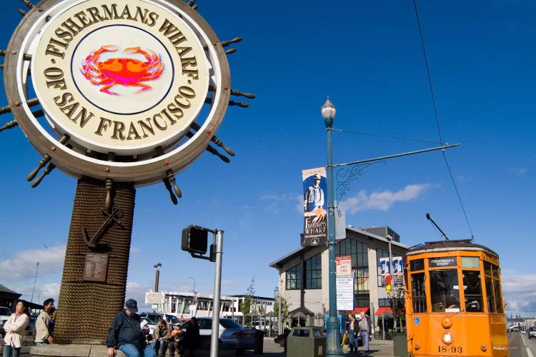
<instances>
[{"instance_id":1,"label":"thin wispy white cloud right of lamp post, above the gabled building","mask_svg":"<svg viewBox=\"0 0 536 357\"><path fill-rule=\"evenodd\" d=\"M430 183L421 183L407 185L397 192L386 190L375 191L370 194L367 194L366 190L361 190L357 193L357 196L350 197L346 201L339 203L339 208L350 213L366 210L387 211L397 202L412 201L418 198L429 187Z\"/></svg>"}]
</instances>

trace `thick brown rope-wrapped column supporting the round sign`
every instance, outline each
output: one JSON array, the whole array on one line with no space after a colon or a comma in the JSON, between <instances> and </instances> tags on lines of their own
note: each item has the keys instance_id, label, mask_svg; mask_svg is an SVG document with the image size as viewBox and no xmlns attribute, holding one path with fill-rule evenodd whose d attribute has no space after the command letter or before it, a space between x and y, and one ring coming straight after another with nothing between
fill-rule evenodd
<instances>
[{"instance_id":1,"label":"thick brown rope-wrapped column supporting the round sign","mask_svg":"<svg viewBox=\"0 0 536 357\"><path fill-rule=\"evenodd\" d=\"M110 223L100 236L98 248L89 248L84 243L82 228L88 236L93 236L106 220L102 212L106 189L103 181L79 179L57 304L54 343L106 343L111 321L123 308L125 299L135 196L132 183L114 184L113 205L123 213L118 218L122 228ZM84 281L86 253L109 255L105 282Z\"/></svg>"}]
</instances>

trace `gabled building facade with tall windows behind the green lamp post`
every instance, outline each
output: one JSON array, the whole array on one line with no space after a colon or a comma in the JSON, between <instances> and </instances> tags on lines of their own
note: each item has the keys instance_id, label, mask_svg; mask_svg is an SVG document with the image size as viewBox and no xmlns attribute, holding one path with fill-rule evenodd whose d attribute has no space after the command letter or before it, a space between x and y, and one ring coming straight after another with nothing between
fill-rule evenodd
<instances>
[{"instance_id":1,"label":"gabled building facade with tall windows behind the green lamp post","mask_svg":"<svg viewBox=\"0 0 536 357\"><path fill-rule=\"evenodd\" d=\"M380 326L385 318L392 319L392 293L387 293L380 270L380 258L389 258L389 245L392 257L404 256L409 248L387 226L347 226L345 237L337 239L335 246L335 256L352 258L353 312L364 311L371 316L376 331L380 329L379 318L382 318ZM324 316L329 313L328 263L327 246L300 247L270 263L279 273L279 292L288 304L289 326L293 323L323 326Z\"/></svg>"}]
</instances>

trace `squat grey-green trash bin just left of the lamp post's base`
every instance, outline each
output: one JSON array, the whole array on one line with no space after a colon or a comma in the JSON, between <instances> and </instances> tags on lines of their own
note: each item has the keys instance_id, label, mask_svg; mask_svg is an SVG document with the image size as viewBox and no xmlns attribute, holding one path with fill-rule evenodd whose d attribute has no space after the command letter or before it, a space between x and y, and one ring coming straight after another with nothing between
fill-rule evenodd
<instances>
[{"instance_id":1,"label":"squat grey-green trash bin just left of the lamp post's base","mask_svg":"<svg viewBox=\"0 0 536 357\"><path fill-rule=\"evenodd\" d=\"M319 327L294 327L287 336L287 357L302 356L326 356L326 337Z\"/></svg>"}]
</instances>

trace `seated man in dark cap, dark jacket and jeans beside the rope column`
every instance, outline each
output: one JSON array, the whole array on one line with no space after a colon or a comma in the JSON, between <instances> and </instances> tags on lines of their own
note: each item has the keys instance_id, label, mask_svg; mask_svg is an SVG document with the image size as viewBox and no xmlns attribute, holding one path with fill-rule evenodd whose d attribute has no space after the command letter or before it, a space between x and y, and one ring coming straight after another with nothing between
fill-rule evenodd
<instances>
[{"instance_id":1,"label":"seated man in dark cap, dark jacket and jeans beside the rope column","mask_svg":"<svg viewBox=\"0 0 536 357\"><path fill-rule=\"evenodd\" d=\"M137 312L138 303L130 298L124 304L124 310L116 313L106 340L108 357L115 356L116 348L127 357L157 357L157 354L145 342L140 326L141 318Z\"/></svg>"}]
</instances>

